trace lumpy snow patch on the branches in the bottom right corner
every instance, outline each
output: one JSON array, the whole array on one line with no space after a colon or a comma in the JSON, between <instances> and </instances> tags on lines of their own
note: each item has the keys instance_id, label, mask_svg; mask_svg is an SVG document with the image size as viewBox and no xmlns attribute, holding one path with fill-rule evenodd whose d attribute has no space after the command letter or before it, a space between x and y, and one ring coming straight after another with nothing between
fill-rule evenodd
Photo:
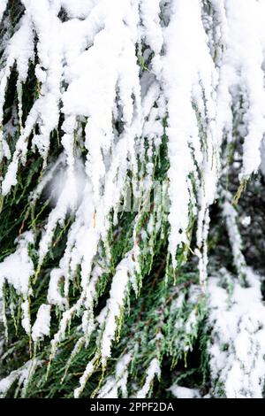
<instances>
[{"instance_id":1,"label":"lumpy snow patch on the branches in the bottom right corner","mask_svg":"<svg viewBox=\"0 0 265 416\"><path fill-rule=\"evenodd\" d=\"M248 287L233 279L231 295L211 277L208 293L213 327L213 343L209 345L210 369L216 389L220 383L228 398L261 398L265 374L265 306L262 303L261 281L246 269ZM229 278L229 273L223 271ZM215 390L214 390L215 391Z\"/></svg>"}]
</instances>

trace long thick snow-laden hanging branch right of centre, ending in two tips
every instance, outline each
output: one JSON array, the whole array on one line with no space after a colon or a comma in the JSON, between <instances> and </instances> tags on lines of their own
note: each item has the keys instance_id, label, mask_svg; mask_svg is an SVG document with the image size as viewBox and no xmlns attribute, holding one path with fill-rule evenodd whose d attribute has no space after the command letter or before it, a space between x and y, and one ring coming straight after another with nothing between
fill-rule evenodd
<instances>
[{"instance_id":1,"label":"long thick snow-laden hanging branch right of centre, ending in two tips","mask_svg":"<svg viewBox=\"0 0 265 416\"><path fill-rule=\"evenodd\" d=\"M199 249L205 245L207 238L208 206L215 197L217 177L216 158L213 156L216 147L216 69L201 22L200 2L173 1L171 13L170 24L164 29L166 54L163 57L163 89L169 114L166 128L170 157L169 250L172 264L176 267L177 247L187 243L186 229L192 200L189 177L190 173L196 171L195 163L201 166L204 175L199 188ZM194 104L204 113L203 128L208 133L208 155L203 151ZM203 283L207 266L205 250L203 254L199 252L199 260Z\"/></svg>"}]
</instances>

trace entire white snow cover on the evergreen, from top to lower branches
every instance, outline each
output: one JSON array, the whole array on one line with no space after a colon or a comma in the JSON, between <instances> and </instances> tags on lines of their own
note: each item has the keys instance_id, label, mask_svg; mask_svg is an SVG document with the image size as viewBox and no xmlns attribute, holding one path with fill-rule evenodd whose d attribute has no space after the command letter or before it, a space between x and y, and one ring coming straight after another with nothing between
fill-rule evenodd
<instances>
[{"instance_id":1,"label":"entire white snow cover on the evergreen, from top to lower branches","mask_svg":"<svg viewBox=\"0 0 265 416\"><path fill-rule=\"evenodd\" d=\"M1 1L0 20L6 4L5 0ZM208 290L212 310L216 310L210 318L217 328L216 344L211 350L212 372L225 383L228 397L260 397L261 378L265 374L259 329L263 321L257 318L257 309L264 315L260 289L254 276L246 273L237 211L231 196L218 186L222 144L236 140L235 108L241 116L236 135L243 141L239 181L249 179L261 164L260 149L265 132L265 2L21 0L21 4L25 12L0 60L0 162L4 161L7 166L0 178L1 197L7 197L17 184L19 167L30 163L27 155L31 150L42 156L43 171L30 204L34 206L43 189L48 188L53 206L37 247L38 265L34 267L29 254L34 234L26 232L20 236L17 250L0 264L0 297L3 297L4 284L11 285L22 297L22 325L34 343L49 336L52 308L62 311L57 333L51 341L50 359L56 354L57 344L64 340L72 317L82 315L82 342L89 343L96 327L99 344L96 359L101 359L105 366L129 289L132 286L135 293L139 290L139 238L144 238L144 233L139 237L137 228L140 213L133 230L133 249L117 265L107 304L95 317L95 288L105 266L97 265L97 256L103 243L106 264L110 262L108 233L117 220L126 186L137 189L139 178L144 177L140 190L144 196L150 194L154 159L165 133L170 161L167 173L170 264L174 269L178 266L177 250L189 248L189 227L197 220L193 252L199 260L201 288ZM37 89L34 103L25 113L23 84L30 64L34 65ZM18 99L13 119L4 123L6 92L14 67L18 73ZM58 135L62 154L49 166L50 135L59 127L63 132ZM9 146L9 135L18 136L14 150ZM223 218L242 284L241 287L234 283L232 296L238 306L233 305L230 312L224 307L226 291L213 280L207 288L209 207L216 196L224 199ZM110 212L113 212L113 222ZM29 310L31 278L38 277L57 225L64 227L69 214L73 221L64 255L49 275L48 304L41 305L33 324ZM158 216L155 226L150 216L147 228L150 234L157 232L160 220ZM69 307L69 287L77 270L80 270L81 293ZM246 274L250 288L243 288ZM220 298L216 297L217 292ZM251 313L244 310L246 294L253 296ZM221 298L223 304L220 304ZM2 305L4 312L5 303ZM227 331L233 336L224 330L223 313L232 316ZM258 331L252 340L249 321ZM191 314L187 331L193 330L194 322ZM228 341L228 352L220 352L223 343ZM239 348L243 343L249 347L245 351ZM74 347L73 353L80 344ZM246 351L250 351L247 357ZM235 360L234 365L231 359ZM219 368L222 362L223 367ZM102 397L117 395L117 389L125 389L128 363L124 364L121 374L113 376L102 387ZM94 368L95 358L80 378L76 397ZM159 361L152 359L137 397L148 396L160 371ZM238 385L233 382L235 378ZM174 391L179 393L179 389L176 387Z\"/></svg>"}]
</instances>

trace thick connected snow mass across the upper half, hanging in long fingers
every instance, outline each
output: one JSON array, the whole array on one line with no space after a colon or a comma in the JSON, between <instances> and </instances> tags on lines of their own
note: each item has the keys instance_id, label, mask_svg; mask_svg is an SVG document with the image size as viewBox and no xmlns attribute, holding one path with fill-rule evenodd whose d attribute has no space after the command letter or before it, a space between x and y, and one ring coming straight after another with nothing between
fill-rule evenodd
<instances>
[{"instance_id":1,"label":"thick connected snow mass across the upper half, hanging in long fingers","mask_svg":"<svg viewBox=\"0 0 265 416\"><path fill-rule=\"evenodd\" d=\"M190 177L191 173L198 176L199 167L203 178L198 184L199 250L196 253L201 262L201 281L205 281L208 206L216 196L218 152L223 133L231 137L231 104L241 95L246 100L241 177L247 178L256 172L261 162L260 144L265 129L262 110L265 108L262 71L264 3L247 0L239 8L237 1L212 1L213 12L208 20L201 18L203 7L199 0L171 0L167 5L149 0L115 0L114 3L100 0L86 4L25 0L22 3L26 12L4 53L6 63L0 75L0 111L14 63L19 73L18 95L21 94L21 82L26 80L29 61L34 59L34 31L38 35L39 64L35 73L40 82L40 95L25 126L20 127L12 156L2 137L2 158L11 158L2 182L2 193L6 195L16 183L19 162L26 161L28 137L34 133L36 125L40 133L34 133L33 146L46 160L49 135L57 128L60 112L63 113L62 144L68 186L62 190L55 211L49 217L40 248L41 258L49 250L51 235L57 222L64 220L69 202L72 209L76 205L73 196L79 186L79 175L75 168L78 157L73 148L74 136L79 135L80 120L87 122L84 144L88 153L84 169L87 187L92 187L90 209L98 220L95 231L98 230L100 236L108 227L106 215L117 205L123 192L127 169L136 170L139 149L135 138L143 131L152 140L161 135L157 123L148 124L153 112L156 117L162 116L156 87L160 85L166 101L164 110L168 114L169 250L176 266L177 247L187 243L186 229L193 193ZM4 10L4 4L2 8ZM58 19L61 8L70 19ZM162 24L160 12L164 13L165 21L169 19L168 25ZM148 47L143 59L150 59L150 73L142 75L135 56L135 43L141 40ZM145 94L141 95L141 91ZM156 110L155 103L158 104ZM20 124L22 112L19 100ZM0 118L3 118L1 113ZM124 131L121 135L113 128L113 119L122 121ZM97 238L95 244L96 241ZM76 242L75 245L80 244Z\"/></svg>"}]
</instances>

